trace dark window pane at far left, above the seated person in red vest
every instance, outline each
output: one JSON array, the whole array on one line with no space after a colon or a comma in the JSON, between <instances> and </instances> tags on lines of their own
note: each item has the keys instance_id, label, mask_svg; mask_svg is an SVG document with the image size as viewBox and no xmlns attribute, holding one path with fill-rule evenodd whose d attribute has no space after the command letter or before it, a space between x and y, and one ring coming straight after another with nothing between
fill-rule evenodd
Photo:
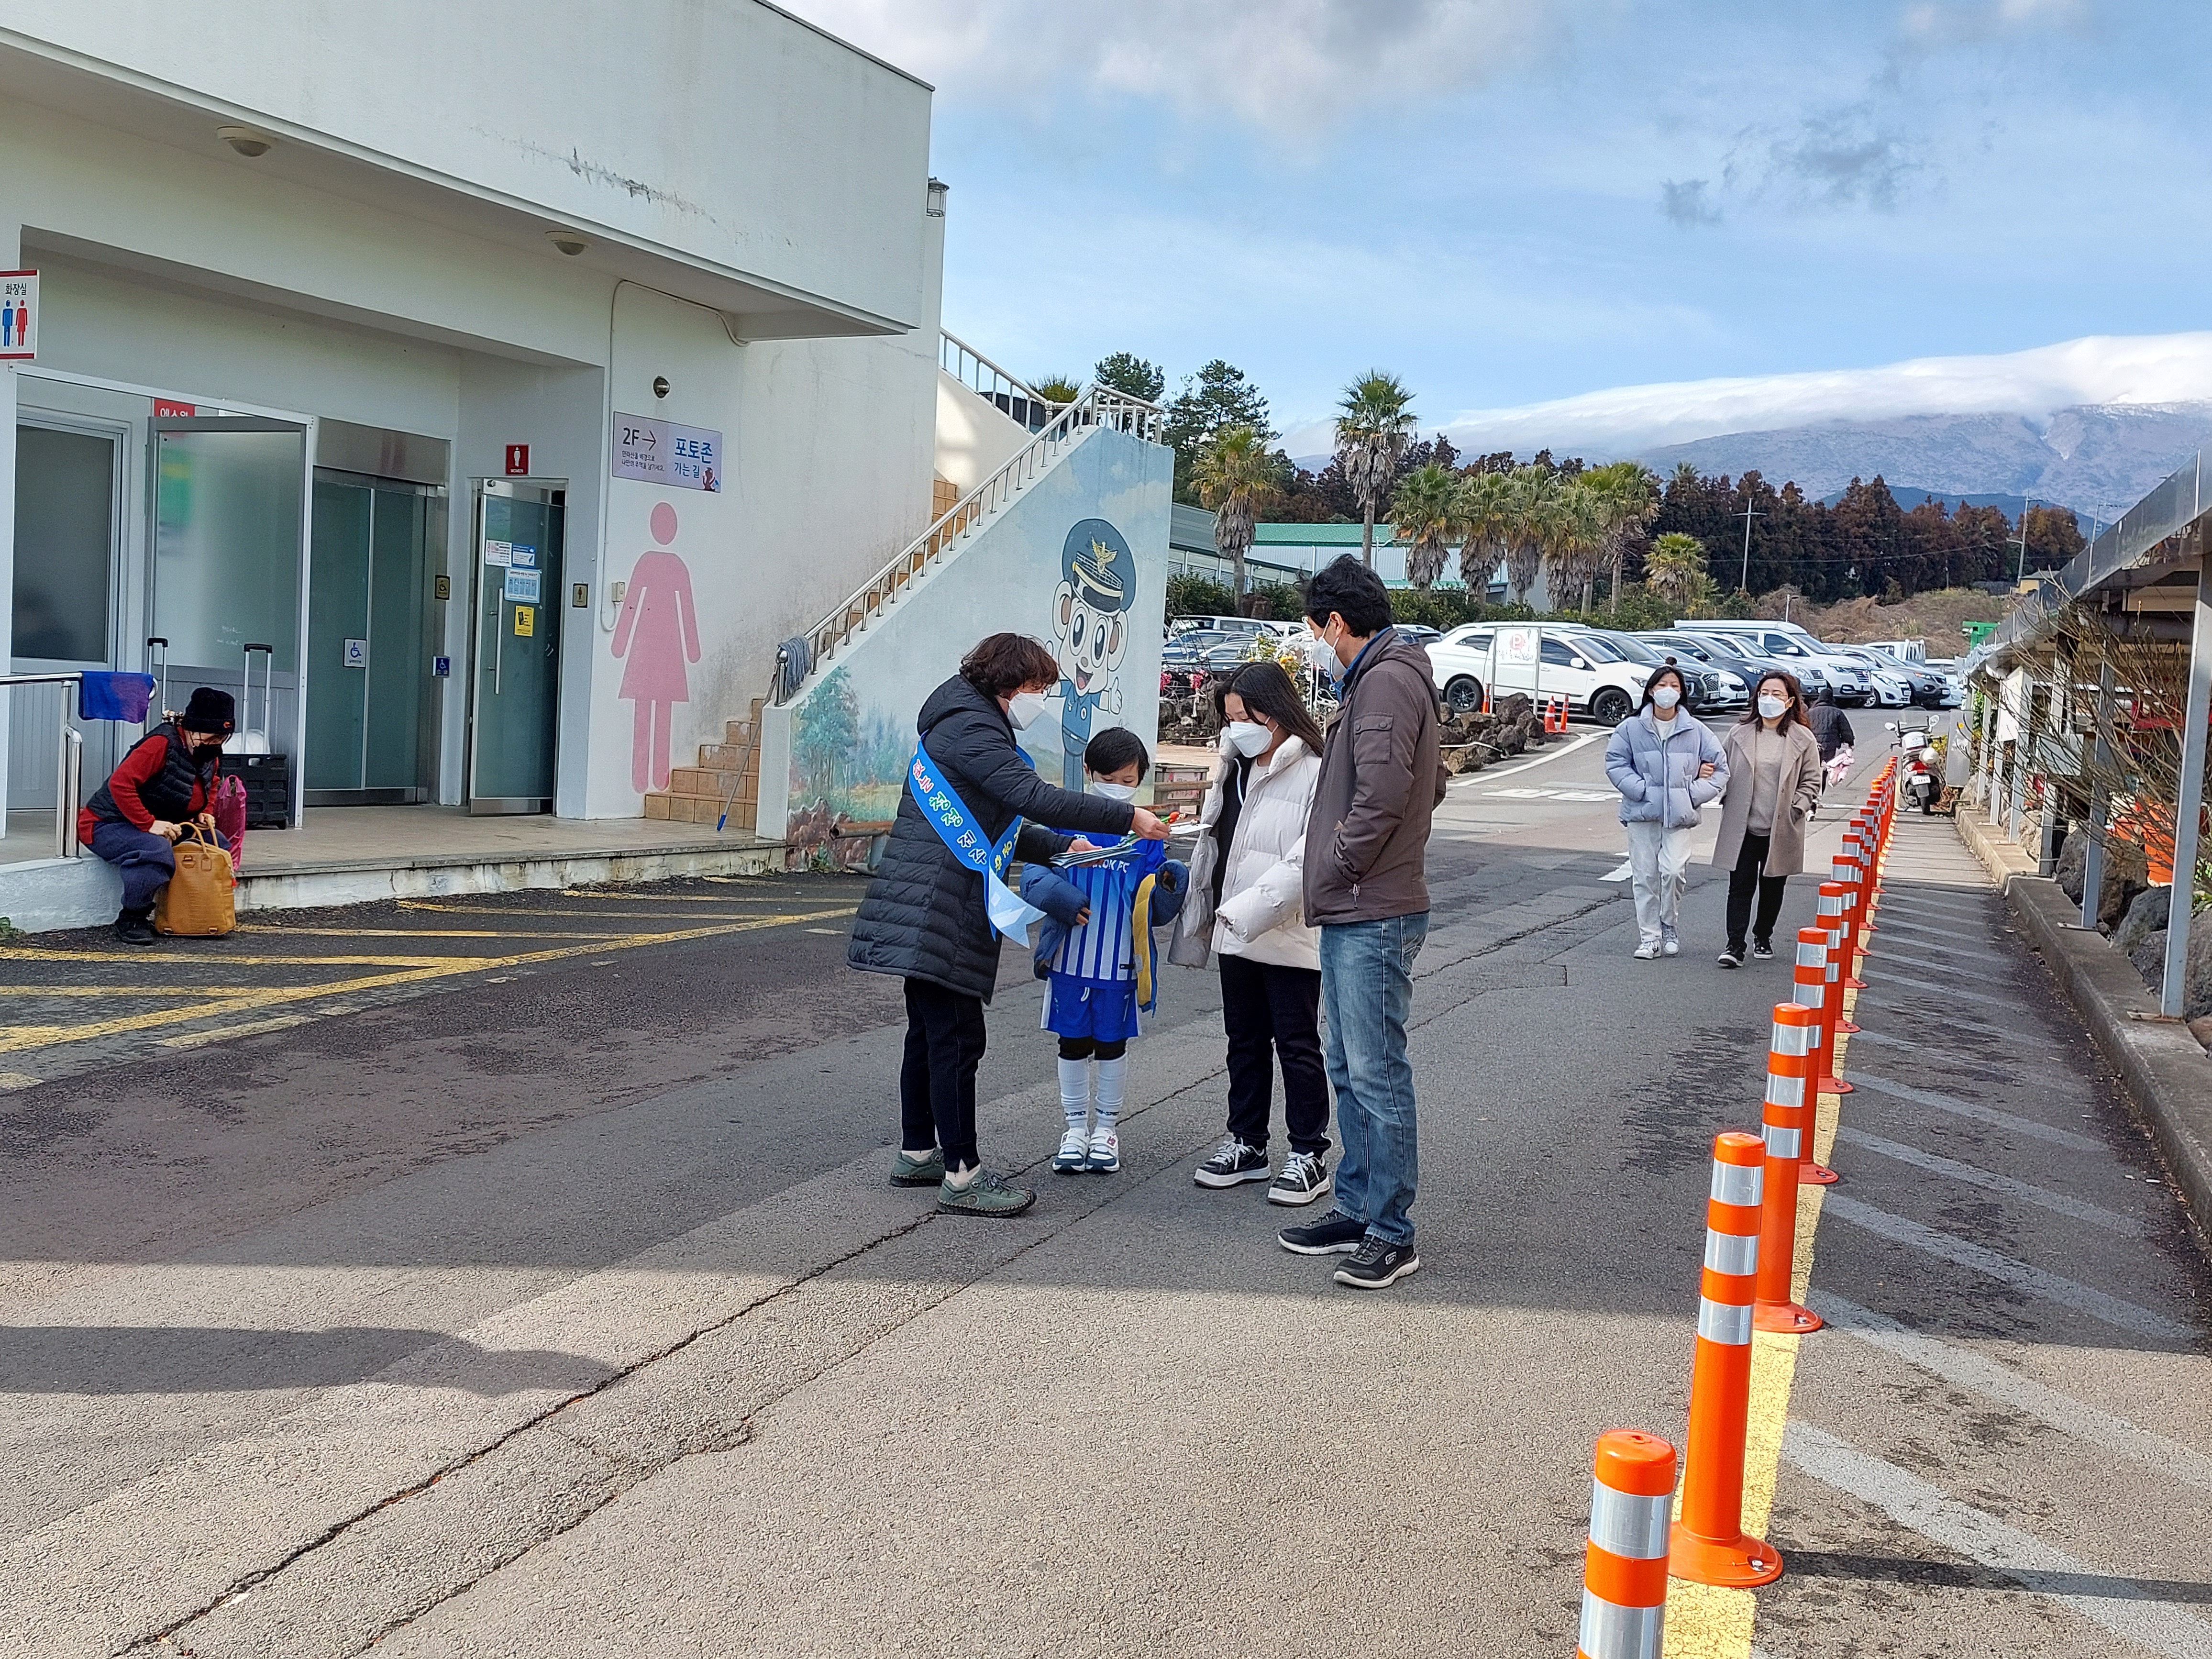
<instances>
[{"instance_id":1,"label":"dark window pane at far left, above the seated person in red vest","mask_svg":"<svg viewBox=\"0 0 2212 1659\"><path fill-rule=\"evenodd\" d=\"M115 440L15 427L18 657L104 664L115 566Z\"/></svg>"}]
</instances>

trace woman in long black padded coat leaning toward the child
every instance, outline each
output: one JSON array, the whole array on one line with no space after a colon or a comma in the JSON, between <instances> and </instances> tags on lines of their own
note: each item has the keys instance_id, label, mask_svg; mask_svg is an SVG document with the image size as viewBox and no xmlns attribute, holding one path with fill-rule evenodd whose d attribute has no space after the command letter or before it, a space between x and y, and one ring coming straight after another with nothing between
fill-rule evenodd
<instances>
[{"instance_id":1,"label":"woman in long black padded coat leaning toward the child","mask_svg":"<svg viewBox=\"0 0 2212 1659\"><path fill-rule=\"evenodd\" d=\"M1042 825L1161 841L1168 830L1144 807L1073 794L1044 783L1013 741L1044 712L1060 664L1035 639L995 633L960 672L929 692L920 734L931 763L975 814L987 841L1029 823L1015 843L1022 860L1044 860L1071 841ZM984 907L984 878L953 858L911 792L883 867L860 900L845 960L907 982L907 1055L898 1071L902 1119L891 1186L936 1186L938 1208L960 1214L1020 1214L1035 1194L980 1168L975 1155L975 1066L982 1062L982 1009L998 982L998 936Z\"/></svg>"}]
</instances>

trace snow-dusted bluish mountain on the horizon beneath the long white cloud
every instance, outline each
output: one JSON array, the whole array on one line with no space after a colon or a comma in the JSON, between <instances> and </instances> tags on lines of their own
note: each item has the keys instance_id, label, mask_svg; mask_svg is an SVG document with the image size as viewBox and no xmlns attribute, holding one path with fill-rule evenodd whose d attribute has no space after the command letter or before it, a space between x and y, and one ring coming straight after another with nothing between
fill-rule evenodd
<instances>
[{"instance_id":1,"label":"snow-dusted bluish mountain on the horizon beneath the long white cloud","mask_svg":"<svg viewBox=\"0 0 2212 1659\"><path fill-rule=\"evenodd\" d=\"M2212 442L2212 400L2073 405L2024 414L1916 414L1891 420L1820 420L1637 447L1661 478L1690 462L1701 473L1796 482L1834 495L1854 478L1938 495L2033 495L2106 522L2132 507Z\"/></svg>"}]
</instances>

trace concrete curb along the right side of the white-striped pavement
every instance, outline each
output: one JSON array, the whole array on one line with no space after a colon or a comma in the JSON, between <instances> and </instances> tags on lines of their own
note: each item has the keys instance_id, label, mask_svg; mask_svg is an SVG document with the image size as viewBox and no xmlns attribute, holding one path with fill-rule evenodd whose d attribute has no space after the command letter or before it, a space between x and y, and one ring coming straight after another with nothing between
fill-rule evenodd
<instances>
[{"instance_id":1,"label":"concrete curb along the right side of the white-striped pavement","mask_svg":"<svg viewBox=\"0 0 2212 1659\"><path fill-rule=\"evenodd\" d=\"M2181 1188L2190 1232L2212 1256L2212 1053L2188 1026L2159 1018L2143 978L2101 933L2081 929L2079 911L2055 880L2008 869L1989 832L1966 814L1958 832L1989 865L2028 942L2128 1084L2135 1115Z\"/></svg>"}]
</instances>

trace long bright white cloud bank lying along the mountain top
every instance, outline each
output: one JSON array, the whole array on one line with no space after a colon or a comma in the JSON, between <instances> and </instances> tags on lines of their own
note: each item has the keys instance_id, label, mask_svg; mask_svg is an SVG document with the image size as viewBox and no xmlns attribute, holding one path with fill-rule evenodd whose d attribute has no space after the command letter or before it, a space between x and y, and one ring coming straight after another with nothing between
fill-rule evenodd
<instances>
[{"instance_id":1,"label":"long bright white cloud bank lying along the mountain top","mask_svg":"<svg viewBox=\"0 0 2212 1659\"><path fill-rule=\"evenodd\" d=\"M2028 352L1924 356L1876 369L1613 387L1515 409L1475 409L1447 420L1444 431L1473 453L1548 445L1604 456L1816 420L1913 414L2020 414L2042 420L2073 405L2205 400L2212 400L2212 332L2093 334ZM1292 434L1292 442L1303 438L1307 434Z\"/></svg>"}]
</instances>

